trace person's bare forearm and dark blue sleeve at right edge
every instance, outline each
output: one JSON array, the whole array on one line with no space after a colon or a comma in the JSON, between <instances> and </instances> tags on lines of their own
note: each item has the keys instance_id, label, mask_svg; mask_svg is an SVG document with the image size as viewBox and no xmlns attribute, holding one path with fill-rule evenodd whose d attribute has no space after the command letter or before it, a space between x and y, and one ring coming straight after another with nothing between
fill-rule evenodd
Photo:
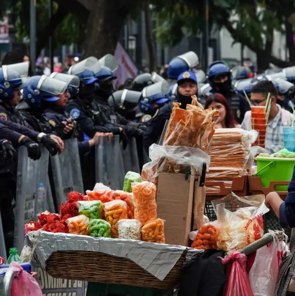
<instances>
[{"instance_id":1,"label":"person's bare forearm and dark blue sleeve at right edge","mask_svg":"<svg viewBox=\"0 0 295 296\"><path fill-rule=\"evenodd\" d=\"M285 201L276 192L270 192L266 195L265 205L275 212L281 226L295 227L295 167Z\"/></svg>"}]
</instances>

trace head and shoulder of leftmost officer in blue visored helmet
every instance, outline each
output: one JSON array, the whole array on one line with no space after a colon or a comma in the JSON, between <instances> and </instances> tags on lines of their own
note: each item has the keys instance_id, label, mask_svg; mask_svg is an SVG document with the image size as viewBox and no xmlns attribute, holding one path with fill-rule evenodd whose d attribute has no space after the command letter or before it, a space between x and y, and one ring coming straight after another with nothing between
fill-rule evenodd
<instances>
[{"instance_id":1,"label":"head and shoulder of leftmost officer in blue visored helmet","mask_svg":"<svg viewBox=\"0 0 295 296\"><path fill-rule=\"evenodd\" d=\"M28 76L29 64L3 65L0 68L0 118L25 125L15 110L21 99L22 78Z\"/></svg>"}]
</instances>

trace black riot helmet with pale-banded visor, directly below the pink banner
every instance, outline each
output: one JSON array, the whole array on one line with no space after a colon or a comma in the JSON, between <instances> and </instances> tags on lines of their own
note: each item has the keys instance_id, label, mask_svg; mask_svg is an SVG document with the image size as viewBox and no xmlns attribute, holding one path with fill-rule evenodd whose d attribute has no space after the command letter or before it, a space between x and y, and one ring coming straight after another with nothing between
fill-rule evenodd
<instances>
[{"instance_id":1,"label":"black riot helmet with pale-banded visor, directly below the pink banner","mask_svg":"<svg viewBox=\"0 0 295 296\"><path fill-rule=\"evenodd\" d=\"M115 110L134 110L140 100L141 92L129 89L117 90L109 96L108 102Z\"/></svg>"}]
</instances>

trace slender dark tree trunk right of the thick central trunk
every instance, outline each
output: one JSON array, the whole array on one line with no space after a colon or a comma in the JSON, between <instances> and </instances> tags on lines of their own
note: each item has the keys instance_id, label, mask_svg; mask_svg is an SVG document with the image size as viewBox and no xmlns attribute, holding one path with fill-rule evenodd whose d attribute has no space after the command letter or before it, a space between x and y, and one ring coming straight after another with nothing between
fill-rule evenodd
<instances>
[{"instance_id":1,"label":"slender dark tree trunk right of the thick central trunk","mask_svg":"<svg viewBox=\"0 0 295 296\"><path fill-rule=\"evenodd\" d=\"M149 52L149 68L150 68L150 72L152 72L152 71L155 71L157 67L157 55L156 55L155 42L153 39L152 17L151 17L148 1L144 2L143 10L144 10L144 19L145 19L145 35L146 35L148 52Z\"/></svg>"}]
</instances>

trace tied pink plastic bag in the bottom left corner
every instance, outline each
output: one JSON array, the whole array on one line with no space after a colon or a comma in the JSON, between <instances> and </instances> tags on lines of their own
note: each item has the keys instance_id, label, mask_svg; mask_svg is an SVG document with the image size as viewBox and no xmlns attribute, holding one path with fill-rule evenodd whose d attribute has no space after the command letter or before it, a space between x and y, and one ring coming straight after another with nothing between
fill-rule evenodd
<instances>
[{"instance_id":1,"label":"tied pink plastic bag in the bottom left corner","mask_svg":"<svg viewBox=\"0 0 295 296\"><path fill-rule=\"evenodd\" d=\"M9 270L13 270L17 276L11 285L10 296L42 296L42 290L33 276L23 270L16 262L12 262Z\"/></svg>"}]
</instances>

